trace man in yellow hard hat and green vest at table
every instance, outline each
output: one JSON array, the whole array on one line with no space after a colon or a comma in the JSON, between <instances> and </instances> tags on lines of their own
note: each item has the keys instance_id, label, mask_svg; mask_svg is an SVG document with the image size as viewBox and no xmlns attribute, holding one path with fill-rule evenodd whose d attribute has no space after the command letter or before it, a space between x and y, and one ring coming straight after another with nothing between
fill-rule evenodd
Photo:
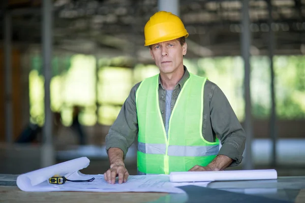
<instances>
[{"instance_id":1,"label":"man in yellow hard hat and green vest at table","mask_svg":"<svg viewBox=\"0 0 305 203\"><path fill-rule=\"evenodd\" d=\"M108 183L127 181L124 164L138 135L138 174L220 171L238 165L246 135L220 88L183 64L189 36L182 21L157 12L144 28L160 74L136 84L106 136ZM222 148L219 150L219 140Z\"/></svg>"}]
</instances>

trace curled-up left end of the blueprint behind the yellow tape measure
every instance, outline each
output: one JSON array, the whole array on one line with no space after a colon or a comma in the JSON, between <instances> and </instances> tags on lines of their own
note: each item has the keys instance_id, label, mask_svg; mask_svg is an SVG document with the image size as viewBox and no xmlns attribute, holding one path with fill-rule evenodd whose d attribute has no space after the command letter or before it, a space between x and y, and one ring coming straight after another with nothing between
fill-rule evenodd
<instances>
[{"instance_id":1,"label":"curled-up left end of the blueprint behind the yellow tape measure","mask_svg":"<svg viewBox=\"0 0 305 203\"><path fill-rule=\"evenodd\" d=\"M87 167L89 162L90 161L87 157L81 157L51 165L49 167L44 167L33 172L21 174L17 177L17 186L23 191L37 191L36 186L48 180L52 176L65 176L66 174L76 172Z\"/></svg>"}]
</instances>

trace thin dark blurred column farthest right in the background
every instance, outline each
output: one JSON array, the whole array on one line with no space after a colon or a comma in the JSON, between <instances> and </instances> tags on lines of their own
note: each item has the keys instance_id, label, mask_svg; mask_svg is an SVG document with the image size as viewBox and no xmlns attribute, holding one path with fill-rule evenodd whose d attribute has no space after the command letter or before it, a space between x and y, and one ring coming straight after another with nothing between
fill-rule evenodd
<instances>
[{"instance_id":1,"label":"thin dark blurred column farthest right in the background","mask_svg":"<svg viewBox=\"0 0 305 203\"><path fill-rule=\"evenodd\" d=\"M272 3L271 0L267 0L268 12L269 12L269 60L270 60L270 90L271 90L271 112L270 112L270 138L272 140L271 149L271 167L275 167L277 164L277 130L276 130L276 99L275 99L275 72L273 70L273 55L275 52L275 35L272 30Z\"/></svg>"}]
</instances>

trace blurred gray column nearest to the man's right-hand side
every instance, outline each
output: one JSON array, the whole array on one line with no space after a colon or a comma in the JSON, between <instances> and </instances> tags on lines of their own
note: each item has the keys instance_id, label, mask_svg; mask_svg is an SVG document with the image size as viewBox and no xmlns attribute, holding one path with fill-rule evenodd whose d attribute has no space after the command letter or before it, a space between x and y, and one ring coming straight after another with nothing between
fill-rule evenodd
<instances>
[{"instance_id":1,"label":"blurred gray column nearest to the man's right-hand side","mask_svg":"<svg viewBox=\"0 0 305 203\"><path fill-rule=\"evenodd\" d=\"M244 96L245 96L245 131L247 134L246 150L245 150L245 163L243 168L245 170L251 170L252 164L252 113L251 113L251 94L250 94L250 16L249 16L249 1L242 1L242 16L241 16L242 32L241 32L241 55L245 65L245 79L244 79Z\"/></svg>"}]
</instances>

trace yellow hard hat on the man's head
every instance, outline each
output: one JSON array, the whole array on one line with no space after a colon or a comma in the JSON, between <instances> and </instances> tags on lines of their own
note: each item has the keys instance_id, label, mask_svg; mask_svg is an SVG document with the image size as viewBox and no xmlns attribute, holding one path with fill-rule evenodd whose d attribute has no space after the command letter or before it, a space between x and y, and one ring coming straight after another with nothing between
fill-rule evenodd
<instances>
[{"instance_id":1,"label":"yellow hard hat on the man's head","mask_svg":"<svg viewBox=\"0 0 305 203\"><path fill-rule=\"evenodd\" d=\"M150 17L144 27L145 45L189 37L181 19L166 11L159 11Z\"/></svg>"}]
</instances>

